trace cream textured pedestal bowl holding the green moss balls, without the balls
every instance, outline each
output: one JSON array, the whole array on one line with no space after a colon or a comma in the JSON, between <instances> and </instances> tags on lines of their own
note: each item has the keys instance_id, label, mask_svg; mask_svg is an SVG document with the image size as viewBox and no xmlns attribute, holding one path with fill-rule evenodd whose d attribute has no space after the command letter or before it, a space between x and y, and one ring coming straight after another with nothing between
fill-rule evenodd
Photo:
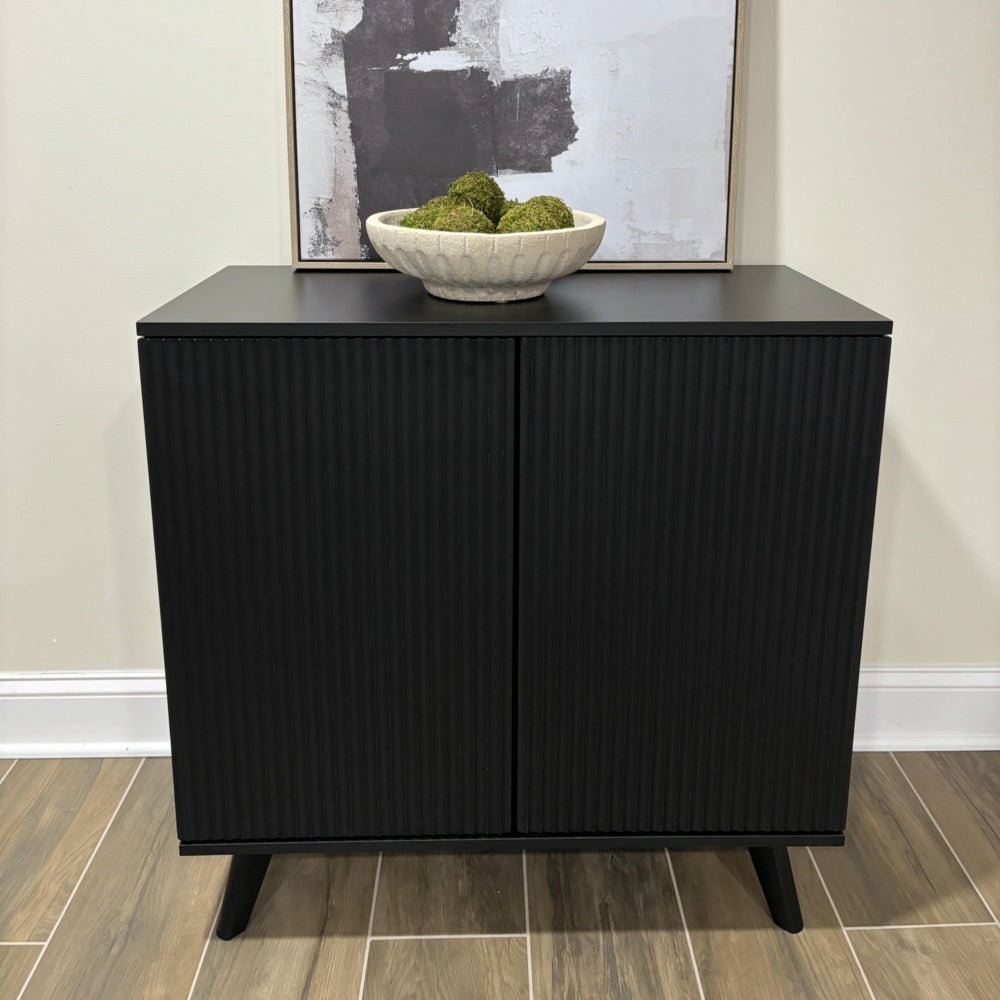
<instances>
[{"instance_id":1,"label":"cream textured pedestal bowl holding the green moss balls, without the balls","mask_svg":"<svg viewBox=\"0 0 1000 1000\"><path fill-rule=\"evenodd\" d=\"M411 208L379 212L365 222L379 256L419 278L431 295L460 302L533 299L593 257L604 219L573 212L573 229L540 233L441 233L400 226Z\"/></svg>"}]
</instances>

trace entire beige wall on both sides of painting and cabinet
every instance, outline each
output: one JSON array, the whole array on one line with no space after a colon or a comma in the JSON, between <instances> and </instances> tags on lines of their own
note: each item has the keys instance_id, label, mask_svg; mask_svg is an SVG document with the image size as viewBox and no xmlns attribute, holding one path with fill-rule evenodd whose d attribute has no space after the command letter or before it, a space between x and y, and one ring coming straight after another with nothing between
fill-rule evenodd
<instances>
[{"instance_id":1,"label":"entire beige wall on both sides of painting and cabinet","mask_svg":"<svg viewBox=\"0 0 1000 1000\"><path fill-rule=\"evenodd\" d=\"M0 18L0 670L156 669L134 323L289 260L280 4ZM1000 663L1000 5L749 29L737 260L896 323L865 662Z\"/></svg>"}]
</instances>

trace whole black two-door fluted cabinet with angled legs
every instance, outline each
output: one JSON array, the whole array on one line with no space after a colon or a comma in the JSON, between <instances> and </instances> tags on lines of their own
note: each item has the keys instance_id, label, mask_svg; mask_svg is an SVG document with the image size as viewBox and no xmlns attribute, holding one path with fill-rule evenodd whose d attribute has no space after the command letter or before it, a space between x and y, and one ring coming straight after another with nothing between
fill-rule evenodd
<instances>
[{"instance_id":1,"label":"whole black two-door fluted cabinet with angled legs","mask_svg":"<svg viewBox=\"0 0 1000 1000\"><path fill-rule=\"evenodd\" d=\"M891 323L783 267L138 324L185 854L840 844Z\"/></svg>"}]
</instances>

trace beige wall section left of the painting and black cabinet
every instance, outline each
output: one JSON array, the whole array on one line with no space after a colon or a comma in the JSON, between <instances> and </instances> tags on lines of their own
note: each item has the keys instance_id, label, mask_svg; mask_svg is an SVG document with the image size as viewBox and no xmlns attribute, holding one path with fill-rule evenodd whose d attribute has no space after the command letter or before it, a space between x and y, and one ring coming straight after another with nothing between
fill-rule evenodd
<instances>
[{"instance_id":1,"label":"beige wall section left of the painting and black cabinet","mask_svg":"<svg viewBox=\"0 0 1000 1000\"><path fill-rule=\"evenodd\" d=\"M281 4L0 10L0 669L160 668L135 321L290 259Z\"/></svg>"}]
</instances>

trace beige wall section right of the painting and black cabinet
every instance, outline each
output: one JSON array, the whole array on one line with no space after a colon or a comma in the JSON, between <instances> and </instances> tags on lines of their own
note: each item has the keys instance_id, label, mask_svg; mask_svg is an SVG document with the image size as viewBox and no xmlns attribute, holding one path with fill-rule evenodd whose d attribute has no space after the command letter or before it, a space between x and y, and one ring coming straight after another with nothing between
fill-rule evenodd
<instances>
[{"instance_id":1,"label":"beige wall section right of the painting and black cabinet","mask_svg":"<svg viewBox=\"0 0 1000 1000\"><path fill-rule=\"evenodd\" d=\"M895 324L866 663L1000 663L997 39L996 0L751 0L738 259Z\"/></svg>"}]
</instances>

